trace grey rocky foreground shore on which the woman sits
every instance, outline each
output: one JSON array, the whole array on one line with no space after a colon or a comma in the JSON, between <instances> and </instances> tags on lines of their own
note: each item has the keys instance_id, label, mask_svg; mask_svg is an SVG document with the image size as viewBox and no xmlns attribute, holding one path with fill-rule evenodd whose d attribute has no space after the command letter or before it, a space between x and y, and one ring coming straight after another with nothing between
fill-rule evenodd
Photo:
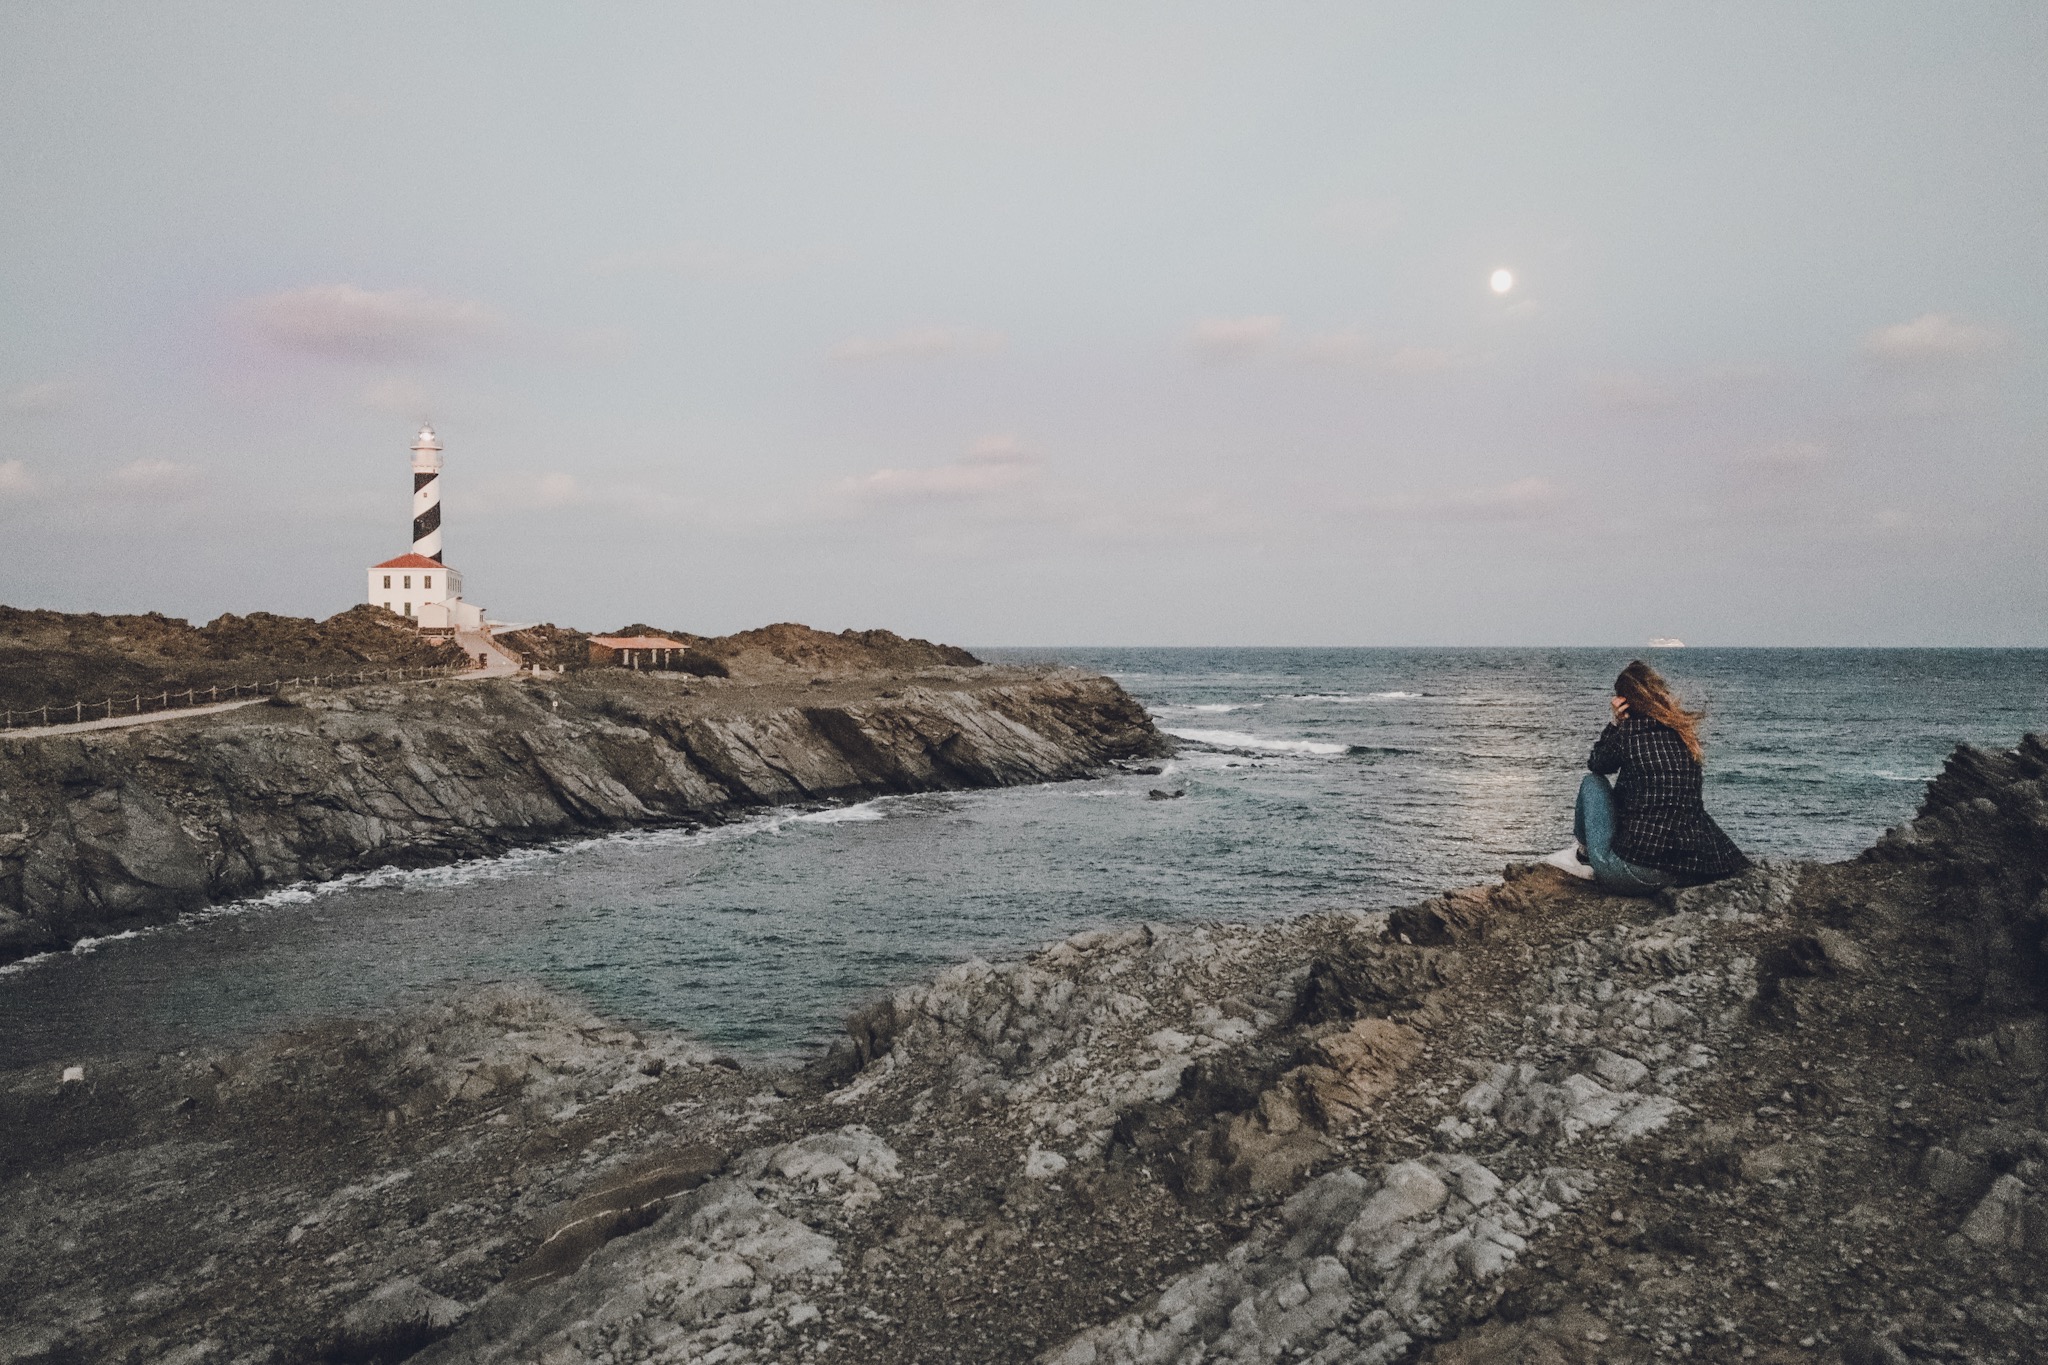
<instances>
[{"instance_id":1,"label":"grey rocky foreground shore on which the woman sits","mask_svg":"<svg viewBox=\"0 0 2048 1365\"><path fill-rule=\"evenodd\" d=\"M2044 929L2030 737L1853 862L1096 929L803 1068L510 988L80 1058L0 1361L2042 1361Z\"/></svg>"}]
</instances>

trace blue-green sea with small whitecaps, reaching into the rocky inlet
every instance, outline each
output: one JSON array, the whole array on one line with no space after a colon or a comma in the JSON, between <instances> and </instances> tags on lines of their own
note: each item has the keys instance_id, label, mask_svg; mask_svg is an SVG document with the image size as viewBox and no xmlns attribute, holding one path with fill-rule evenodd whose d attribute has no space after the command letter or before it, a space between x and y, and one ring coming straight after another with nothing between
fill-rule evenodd
<instances>
[{"instance_id":1,"label":"blue-green sea with small whitecaps, reaching into the rocky inlet","mask_svg":"<svg viewBox=\"0 0 2048 1365\"><path fill-rule=\"evenodd\" d=\"M967 958L1077 929L1386 909L1571 841L1628 649L983 649L1116 677L1157 774L774 810L291 886L0 968L0 1066L176 1052L541 982L795 1058ZM1665 649L1706 800L1757 857L1851 857L1958 743L2048 729L2048 651Z\"/></svg>"}]
</instances>

